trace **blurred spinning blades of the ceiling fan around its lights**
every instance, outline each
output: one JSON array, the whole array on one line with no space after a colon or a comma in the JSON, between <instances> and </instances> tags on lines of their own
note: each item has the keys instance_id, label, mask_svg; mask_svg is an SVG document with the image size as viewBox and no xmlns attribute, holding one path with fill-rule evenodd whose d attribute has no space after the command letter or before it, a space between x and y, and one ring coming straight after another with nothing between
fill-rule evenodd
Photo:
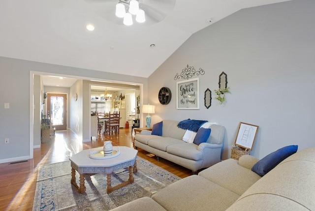
<instances>
[{"instance_id":1,"label":"blurred spinning blades of the ceiling fan around its lights","mask_svg":"<svg viewBox=\"0 0 315 211\"><path fill-rule=\"evenodd\" d=\"M105 10L101 11L102 16L118 25L124 25L123 19L115 15L116 4L119 2L123 3L126 8L126 12L129 9L129 3L131 0L86 0L88 2L97 2L102 4ZM176 0L137 0L139 2L139 8L145 12L145 23L134 24L145 24L151 25L162 21L175 7ZM135 18L135 16L134 16Z\"/></svg>"}]
</instances>

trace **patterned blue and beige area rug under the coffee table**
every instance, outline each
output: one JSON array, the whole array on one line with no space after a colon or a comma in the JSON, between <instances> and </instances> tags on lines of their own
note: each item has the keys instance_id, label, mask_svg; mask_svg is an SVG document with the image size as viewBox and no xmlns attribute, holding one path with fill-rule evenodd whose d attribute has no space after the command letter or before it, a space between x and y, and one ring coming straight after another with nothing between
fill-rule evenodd
<instances>
[{"instance_id":1,"label":"patterned blue and beige area rug under the coffee table","mask_svg":"<svg viewBox=\"0 0 315 211\"><path fill-rule=\"evenodd\" d=\"M106 175L85 176L86 192L80 194L71 185L70 161L38 168L33 211L108 211L135 199L151 196L180 177L142 159L137 158L138 173L134 182L112 193L106 193ZM128 169L112 174L112 186L128 180ZM76 173L77 184L79 174Z\"/></svg>"}]
</instances>

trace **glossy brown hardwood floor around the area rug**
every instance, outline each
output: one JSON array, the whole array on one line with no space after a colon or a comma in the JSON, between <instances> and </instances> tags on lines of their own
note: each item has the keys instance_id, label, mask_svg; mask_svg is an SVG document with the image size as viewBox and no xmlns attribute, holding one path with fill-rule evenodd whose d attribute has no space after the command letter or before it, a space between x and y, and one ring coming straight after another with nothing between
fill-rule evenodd
<instances>
[{"instance_id":1,"label":"glossy brown hardwood floor around the area rug","mask_svg":"<svg viewBox=\"0 0 315 211\"><path fill-rule=\"evenodd\" d=\"M38 166L67 161L69 157L83 150L103 146L111 140L113 145L132 147L131 129L121 129L120 134L99 136L90 142L77 141L71 131L56 132L51 141L34 149L34 158L19 163L0 164L0 211L31 211L36 187ZM184 178L192 175L189 169L170 161L149 157L148 152L138 148L138 156ZM70 182L70 181L69 181Z\"/></svg>"}]
</instances>

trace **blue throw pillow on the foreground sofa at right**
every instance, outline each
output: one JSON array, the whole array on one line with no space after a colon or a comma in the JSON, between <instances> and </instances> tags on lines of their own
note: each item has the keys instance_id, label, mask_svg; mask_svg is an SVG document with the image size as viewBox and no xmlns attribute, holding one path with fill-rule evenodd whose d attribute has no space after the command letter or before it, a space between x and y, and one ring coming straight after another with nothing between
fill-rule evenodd
<instances>
[{"instance_id":1,"label":"blue throw pillow on the foreground sofa at right","mask_svg":"<svg viewBox=\"0 0 315 211\"><path fill-rule=\"evenodd\" d=\"M284 146L275 152L270 153L266 157L258 161L253 167L252 171L260 176L264 176L281 163L285 158L294 154L297 151L298 145Z\"/></svg>"}]
</instances>

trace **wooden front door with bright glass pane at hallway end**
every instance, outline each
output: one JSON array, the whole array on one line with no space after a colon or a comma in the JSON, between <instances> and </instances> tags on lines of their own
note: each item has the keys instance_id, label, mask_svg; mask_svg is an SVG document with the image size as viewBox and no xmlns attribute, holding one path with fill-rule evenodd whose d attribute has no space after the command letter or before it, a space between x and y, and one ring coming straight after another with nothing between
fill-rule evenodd
<instances>
[{"instance_id":1,"label":"wooden front door with bright glass pane at hallway end","mask_svg":"<svg viewBox=\"0 0 315 211\"><path fill-rule=\"evenodd\" d=\"M47 94L47 114L56 130L67 129L67 97L65 94Z\"/></svg>"}]
</instances>

